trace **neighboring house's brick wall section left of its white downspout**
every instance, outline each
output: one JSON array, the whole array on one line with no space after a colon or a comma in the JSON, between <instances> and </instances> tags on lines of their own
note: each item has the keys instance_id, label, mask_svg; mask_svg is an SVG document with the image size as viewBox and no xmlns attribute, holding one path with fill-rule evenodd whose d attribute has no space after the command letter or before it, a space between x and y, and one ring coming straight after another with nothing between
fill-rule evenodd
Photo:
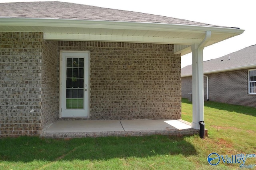
<instances>
[{"instance_id":1,"label":"neighboring house's brick wall section left of its white downspout","mask_svg":"<svg viewBox=\"0 0 256 170\"><path fill-rule=\"evenodd\" d=\"M182 98L188 99L188 93L192 93L192 76L181 78ZM204 101L207 100L207 79L204 76Z\"/></svg>"}]
</instances>

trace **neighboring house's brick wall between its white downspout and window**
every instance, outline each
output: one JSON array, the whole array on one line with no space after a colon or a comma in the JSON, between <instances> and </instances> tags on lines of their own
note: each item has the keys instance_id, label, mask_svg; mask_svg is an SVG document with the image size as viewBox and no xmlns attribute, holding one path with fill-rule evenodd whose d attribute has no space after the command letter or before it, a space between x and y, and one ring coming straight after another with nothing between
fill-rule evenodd
<instances>
[{"instance_id":1,"label":"neighboring house's brick wall between its white downspout and window","mask_svg":"<svg viewBox=\"0 0 256 170\"><path fill-rule=\"evenodd\" d=\"M256 107L256 95L248 94L248 69L208 76L211 101Z\"/></svg>"}]
</instances>

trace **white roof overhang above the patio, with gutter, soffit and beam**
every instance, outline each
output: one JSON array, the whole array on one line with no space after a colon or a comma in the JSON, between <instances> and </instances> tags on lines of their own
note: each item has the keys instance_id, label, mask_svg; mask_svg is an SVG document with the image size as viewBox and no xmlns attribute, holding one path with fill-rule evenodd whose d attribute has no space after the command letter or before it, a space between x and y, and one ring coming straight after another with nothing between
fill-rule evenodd
<instances>
[{"instance_id":1,"label":"white roof overhang above the patio, with gutter, soffit and beam","mask_svg":"<svg viewBox=\"0 0 256 170\"><path fill-rule=\"evenodd\" d=\"M43 18L0 18L0 23L0 32L43 32L45 40L174 44L174 53L181 55L191 52L190 45L202 42L206 31L212 36L204 47L244 32L212 26Z\"/></svg>"}]
</instances>

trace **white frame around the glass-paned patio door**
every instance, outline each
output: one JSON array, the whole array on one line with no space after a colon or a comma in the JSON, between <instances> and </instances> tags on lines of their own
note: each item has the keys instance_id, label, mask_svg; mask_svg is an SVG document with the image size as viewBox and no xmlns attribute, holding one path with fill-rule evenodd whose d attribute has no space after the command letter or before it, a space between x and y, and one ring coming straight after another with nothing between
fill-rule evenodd
<instances>
[{"instance_id":1,"label":"white frame around the glass-paned patio door","mask_svg":"<svg viewBox=\"0 0 256 170\"><path fill-rule=\"evenodd\" d=\"M60 103L59 103L59 112L60 112L60 118L62 118L62 102L64 102L63 101L63 95L65 95L65 94L62 94L62 62L63 62L63 60L62 60L62 54L63 53L88 53L88 63L87 63L87 73L88 73L88 99L87 99L87 101L88 101L88 107L87 107L87 113L88 113L88 116L86 117L86 118L89 118L90 117L90 51L70 51L70 50L67 50L67 51L65 51L65 50L60 50L60 91L59 91L59 93L60 93L60 95L59 95L59 101L60 101ZM85 75L86 76L86 75ZM64 109L64 108L63 108Z\"/></svg>"}]
</instances>

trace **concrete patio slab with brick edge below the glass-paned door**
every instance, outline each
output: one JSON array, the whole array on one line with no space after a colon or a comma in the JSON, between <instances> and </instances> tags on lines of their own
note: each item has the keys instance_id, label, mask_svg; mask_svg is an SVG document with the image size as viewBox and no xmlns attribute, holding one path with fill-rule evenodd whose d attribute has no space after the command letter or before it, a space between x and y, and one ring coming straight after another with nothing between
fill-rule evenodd
<instances>
[{"instance_id":1,"label":"concrete patio slab with brick edge below the glass-paned door","mask_svg":"<svg viewBox=\"0 0 256 170\"><path fill-rule=\"evenodd\" d=\"M192 135L199 130L179 120L74 120L57 121L41 136L45 138L81 138L100 136Z\"/></svg>"}]
</instances>

